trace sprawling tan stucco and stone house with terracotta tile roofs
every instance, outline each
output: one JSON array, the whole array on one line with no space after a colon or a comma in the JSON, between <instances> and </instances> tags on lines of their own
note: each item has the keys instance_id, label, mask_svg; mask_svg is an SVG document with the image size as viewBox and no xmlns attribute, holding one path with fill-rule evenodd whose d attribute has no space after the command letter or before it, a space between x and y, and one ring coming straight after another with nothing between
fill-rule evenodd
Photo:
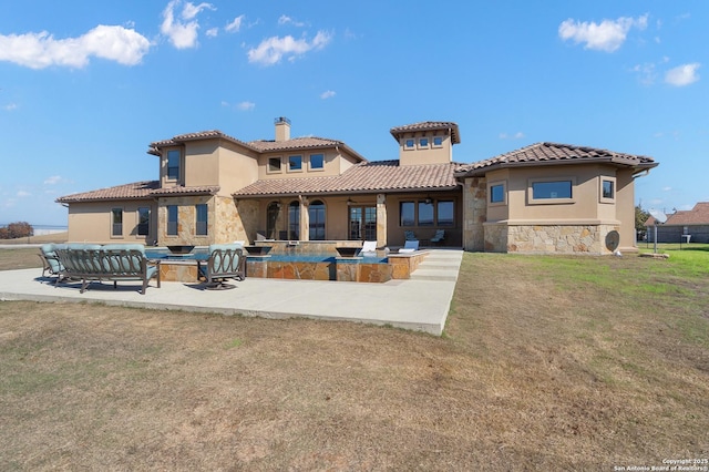
<instances>
[{"instance_id":1,"label":"sprawling tan stucco and stone house with terracotta tile roofs","mask_svg":"<svg viewBox=\"0 0 709 472\"><path fill-rule=\"evenodd\" d=\"M243 142L219 131L154 142L157 181L68 195L69 239L204 246L233 240L377 240L439 229L467 250L609 254L635 247L634 179L650 157L541 143L459 164L455 123L390 130L398 158L341 141ZM617 239L617 242L615 240ZM614 243L615 244L612 244Z\"/></svg>"}]
</instances>

